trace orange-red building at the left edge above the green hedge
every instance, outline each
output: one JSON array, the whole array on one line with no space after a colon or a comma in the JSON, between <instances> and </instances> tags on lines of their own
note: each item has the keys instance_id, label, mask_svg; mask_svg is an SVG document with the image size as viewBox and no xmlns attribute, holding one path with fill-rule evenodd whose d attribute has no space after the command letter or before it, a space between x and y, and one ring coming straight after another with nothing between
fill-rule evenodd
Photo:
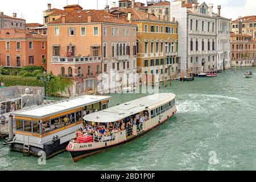
<instances>
[{"instance_id":1,"label":"orange-red building at the left edge above the green hedge","mask_svg":"<svg viewBox=\"0 0 256 182\"><path fill-rule=\"evenodd\" d=\"M26 30L2 29L0 65L2 67L43 66L47 59L47 38Z\"/></svg>"}]
</instances>

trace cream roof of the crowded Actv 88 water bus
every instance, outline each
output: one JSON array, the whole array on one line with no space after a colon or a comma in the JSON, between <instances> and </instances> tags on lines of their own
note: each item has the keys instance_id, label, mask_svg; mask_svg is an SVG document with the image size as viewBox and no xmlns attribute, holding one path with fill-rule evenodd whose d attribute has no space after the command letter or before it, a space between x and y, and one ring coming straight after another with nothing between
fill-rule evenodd
<instances>
[{"instance_id":1,"label":"cream roof of the crowded Actv 88 water bus","mask_svg":"<svg viewBox=\"0 0 256 182\"><path fill-rule=\"evenodd\" d=\"M109 109L85 115L84 119L89 122L110 123L116 122L130 115L140 113L146 109L153 109L170 102L175 98L173 93L158 93L142 97L137 100L126 102Z\"/></svg>"}]
</instances>

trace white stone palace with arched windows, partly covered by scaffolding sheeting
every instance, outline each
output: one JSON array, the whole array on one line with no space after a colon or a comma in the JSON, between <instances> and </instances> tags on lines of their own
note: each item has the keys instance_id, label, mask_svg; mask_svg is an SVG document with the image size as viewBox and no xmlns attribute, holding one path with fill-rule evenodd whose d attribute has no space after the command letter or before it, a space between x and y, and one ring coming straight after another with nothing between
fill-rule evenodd
<instances>
[{"instance_id":1,"label":"white stone palace with arched windows, partly covered by scaffolding sheeting","mask_svg":"<svg viewBox=\"0 0 256 182\"><path fill-rule=\"evenodd\" d=\"M171 18L179 22L180 71L200 72L230 68L231 19L213 13L213 5L197 0L171 2ZM226 27L225 27L226 25Z\"/></svg>"}]
</instances>

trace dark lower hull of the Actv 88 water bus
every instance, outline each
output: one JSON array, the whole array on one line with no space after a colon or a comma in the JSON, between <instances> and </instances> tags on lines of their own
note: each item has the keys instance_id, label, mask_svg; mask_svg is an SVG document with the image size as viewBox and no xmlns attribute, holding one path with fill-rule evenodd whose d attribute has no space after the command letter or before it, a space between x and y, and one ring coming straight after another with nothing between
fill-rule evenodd
<instances>
[{"instance_id":1,"label":"dark lower hull of the Actv 88 water bus","mask_svg":"<svg viewBox=\"0 0 256 182\"><path fill-rule=\"evenodd\" d=\"M175 112L172 113L171 117L174 116L176 111L177 110L175 110ZM109 148L121 146L122 144L126 144L126 143L129 143L129 142L132 142L133 140L138 139L139 137L143 137L144 135L147 135L147 134L151 133L152 131L158 129L160 126L163 125L163 123L168 121L168 119L170 119L171 117L167 117L162 122L160 122L158 125L152 127L151 129L148 129L147 131L143 131L142 133L139 133L138 135L135 135L134 137L131 137L128 140L125 140L125 141L123 141L121 143L113 144L112 146L106 146L104 148L95 148L95 149L92 149L92 150L80 150L80 151L70 151L70 150L68 150L68 146L67 146L67 150L71 153L73 161L77 162L78 160L80 160L82 158L86 158L86 157L88 157L90 155L97 154L98 152L107 150Z\"/></svg>"}]
</instances>

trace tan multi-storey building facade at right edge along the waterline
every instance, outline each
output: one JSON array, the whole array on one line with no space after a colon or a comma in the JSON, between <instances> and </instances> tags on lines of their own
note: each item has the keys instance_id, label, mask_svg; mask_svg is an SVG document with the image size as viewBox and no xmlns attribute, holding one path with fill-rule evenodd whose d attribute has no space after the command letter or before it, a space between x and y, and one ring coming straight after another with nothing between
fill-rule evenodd
<instances>
[{"instance_id":1,"label":"tan multi-storey building facade at right edge along the waterline","mask_svg":"<svg viewBox=\"0 0 256 182\"><path fill-rule=\"evenodd\" d=\"M256 64L256 41L247 34L231 34L232 67L251 67Z\"/></svg>"}]
</instances>

